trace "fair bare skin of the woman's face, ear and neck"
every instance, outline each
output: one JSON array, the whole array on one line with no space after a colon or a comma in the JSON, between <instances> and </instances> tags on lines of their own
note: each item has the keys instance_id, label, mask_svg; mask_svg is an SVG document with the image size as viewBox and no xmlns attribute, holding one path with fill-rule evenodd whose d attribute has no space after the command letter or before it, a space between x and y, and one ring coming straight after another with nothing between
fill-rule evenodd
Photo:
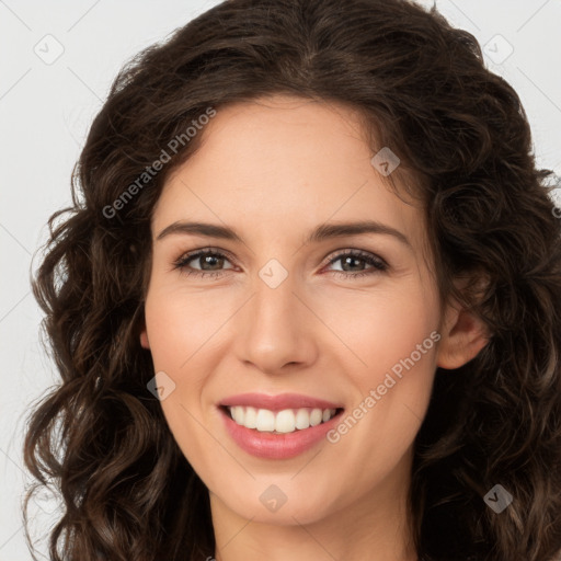
<instances>
[{"instance_id":1,"label":"fair bare skin of the woman's face, ear and neck","mask_svg":"<svg viewBox=\"0 0 561 561\"><path fill-rule=\"evenodd\" d=\"M474 357L486 343L483 327L456 302L440 308L422 210L373 167L351 108L274 95L220 108L199 134L203 146L168 178L153 211L140 341L154 371L175 383L161 407L209 490L216 559L416 560L405 502L413 440L436 367ZM385 233L305 243L324 222L366 219L410 244ZM243 242L157 239L181 220L227 225ZM229 256L188 265L221 276L173 267L205 248ZM388 270L359 257L346 268L344 259L330 264L341 250L379 256ZM272 259L288 273L276 288L259 276ZM367 413L335 444L261 459L224 427L216 404L247 391L314 396L343 403L347 414L433 331L438 344L375 407L363 407ZM276 512L260 501L271 484L287 497Z\"/></svg>"}]
</instances>

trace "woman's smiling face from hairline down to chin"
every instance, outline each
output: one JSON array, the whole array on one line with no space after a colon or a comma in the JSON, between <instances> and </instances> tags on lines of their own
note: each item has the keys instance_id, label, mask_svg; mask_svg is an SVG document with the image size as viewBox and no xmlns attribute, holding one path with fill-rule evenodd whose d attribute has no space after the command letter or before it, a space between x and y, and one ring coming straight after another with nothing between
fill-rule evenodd
<instances>
[{"instance_id":1,"label":"woman's smiling face from hairline down to chin","mask_svg":"<svg viewBox=\"0 0 561 561\"><path fill-rule=\"evenodd\" d=\"M390 512L436 367L480 347L439 307L421 208L344 106L276 95L199 134L153 211L141 334L178 445L214 510L279 525Z\"/></svg>"}]
</instances>

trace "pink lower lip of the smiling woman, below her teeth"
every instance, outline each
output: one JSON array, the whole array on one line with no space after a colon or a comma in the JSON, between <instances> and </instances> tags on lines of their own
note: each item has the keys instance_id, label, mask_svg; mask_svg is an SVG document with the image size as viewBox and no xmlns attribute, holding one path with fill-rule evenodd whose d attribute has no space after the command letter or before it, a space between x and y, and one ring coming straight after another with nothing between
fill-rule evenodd
<instances>
[{"instance_id":1,"label":"pink lower lip of the smiling woman, below her teeth","mask_svg":"<svg viewBox=\"0 0 561 561\"><path fill-rule=\"evenodd\" d=\"M228 411L222 408L219 408L219 410L224 416L227 431L242 450L257 458L273 460L295 458L312 448L325 437L331 428L334 428L343 412L339 411L328 422L309 428L297 430L287 434L274 434L241 426L231 419Z\"/></svg>"}]
</instances>

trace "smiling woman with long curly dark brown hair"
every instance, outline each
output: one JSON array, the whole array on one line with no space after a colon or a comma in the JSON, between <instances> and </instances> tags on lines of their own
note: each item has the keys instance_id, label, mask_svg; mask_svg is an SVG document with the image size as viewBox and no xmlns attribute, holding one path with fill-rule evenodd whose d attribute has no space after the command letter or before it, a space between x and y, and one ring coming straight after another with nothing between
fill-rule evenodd
<instances>
[{"instance_id":1,"label":"smiling woman with long curly dark brown hair","mask_svg":"<svg viewBox=\"0 0 561 561\"><path fill-rule=\"evenodd\" d=\"M232 0L141 53L34 285L51 558L553 560L550 173L402 0Z\"/></svg>"}]
</instances>

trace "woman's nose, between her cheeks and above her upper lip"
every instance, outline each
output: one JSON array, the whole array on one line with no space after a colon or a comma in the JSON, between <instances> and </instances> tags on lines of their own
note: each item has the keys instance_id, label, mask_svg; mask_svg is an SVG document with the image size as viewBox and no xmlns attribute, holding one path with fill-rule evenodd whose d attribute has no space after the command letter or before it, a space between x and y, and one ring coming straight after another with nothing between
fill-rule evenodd
<instances>
[{"instance_id":1,"label":"woman's nose, between her cheeks and above her upper lip","mask_svg":"<svg viewBox=\"0 0 561 561\"><path fill-rule=\"evenodd\" d=\"M302 287L290 274L274 288L257 276L252 287L237 313L238 358L271 375L310 367L318 357L321 322Z\"/></svg>"}]
</instances>

